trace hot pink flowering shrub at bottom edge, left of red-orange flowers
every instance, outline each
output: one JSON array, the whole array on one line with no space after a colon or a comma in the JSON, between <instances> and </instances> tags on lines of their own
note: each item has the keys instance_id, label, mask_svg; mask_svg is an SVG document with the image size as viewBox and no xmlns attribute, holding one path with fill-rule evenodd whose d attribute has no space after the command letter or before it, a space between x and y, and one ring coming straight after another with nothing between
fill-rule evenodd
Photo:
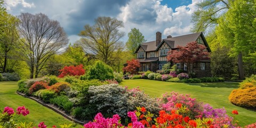
<instances>
[{"instance_id":1,"label":"hot pink flowering shrub at bottom edge, left of red-orange flowers","mask_svg":"<svg viewBox=\"0 0 256 128\"><path fill-rule=\"evenodd\" d=\"M98 113L93 122L84 124L85 128L111 128L123 126L120 122L120 117L115 114L112 118L104 118L101 113Z\"/></svg>"}]
</instances>

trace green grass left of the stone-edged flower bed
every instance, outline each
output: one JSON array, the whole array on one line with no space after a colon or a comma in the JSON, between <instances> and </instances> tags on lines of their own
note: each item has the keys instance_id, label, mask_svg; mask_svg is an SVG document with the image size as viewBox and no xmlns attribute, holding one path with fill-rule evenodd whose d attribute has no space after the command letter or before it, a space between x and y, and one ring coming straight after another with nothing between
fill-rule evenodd
<instances>
[{"instance_id":1,"label":"green grass left of the stone-edged flower bed","mask_svg":"<svg viewBox=\"0 0 256 128\"><path fill-rule=\"evenodd\" d=\"M14 110L18 106L25 106L29 109L30 114L27 116L20 116L19 121L21 122L34 122L34 125L37 126L39 122L45 122L49 127L56 125L59 127L59 124L71 124L73 122L64 118L55 111L42 106L34 100L24 98L21 95L16 93L18 89L17 82L0 82L0 109L3 110L4 107L9 106ZM73 127L81 127L81 125L73 123Z\"/></svg>"}]
</instances>

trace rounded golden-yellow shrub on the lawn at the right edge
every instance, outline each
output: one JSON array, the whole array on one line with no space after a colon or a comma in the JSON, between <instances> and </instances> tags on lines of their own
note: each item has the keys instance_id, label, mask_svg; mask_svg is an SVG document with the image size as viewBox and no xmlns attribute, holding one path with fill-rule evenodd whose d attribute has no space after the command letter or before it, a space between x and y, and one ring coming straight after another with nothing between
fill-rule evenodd
<instances>
[{"instance_id":1,"label":"rounded golden-yellow shrub on the lawn at the right edge","mask_svg":"<svg viewBox=\"0 0 256 128\"><path fill-rule=\"evenodd\" d=\"M233 90L228 99L237 106L256 108L256 87Z\"/></svg>"}]
</instances>

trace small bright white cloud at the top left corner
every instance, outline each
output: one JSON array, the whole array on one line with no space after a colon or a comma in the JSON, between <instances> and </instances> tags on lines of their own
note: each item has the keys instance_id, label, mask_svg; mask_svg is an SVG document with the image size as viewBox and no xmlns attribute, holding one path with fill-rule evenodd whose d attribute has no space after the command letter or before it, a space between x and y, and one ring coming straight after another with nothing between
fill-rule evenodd
<instances>
[{"instance_id":1,"label":"small bright white cloud at the top left corner","mask_svg":"<svg viewBox=\"0 0 256 128\"><path fill-rule=\"evenodd\" d=\"M31 7L36 7L34 3L27 3L25 0L7 0L7 9L10 9L10 7L15 7L19 4L21 4L23 7L31 8Z\"/></svg>"}]
</instances>

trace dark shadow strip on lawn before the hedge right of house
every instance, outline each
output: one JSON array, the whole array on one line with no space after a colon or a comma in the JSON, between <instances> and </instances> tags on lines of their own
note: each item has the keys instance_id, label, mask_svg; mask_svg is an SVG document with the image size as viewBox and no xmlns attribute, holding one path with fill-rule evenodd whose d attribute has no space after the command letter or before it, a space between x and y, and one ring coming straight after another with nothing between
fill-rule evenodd
<instances>
[{"instance_id":1,"label":"dark shadow strip on lawn before the hedge right of house","mask_svg":"<svg viewBox=\"0 0 256 128\"><path fill-rule=\"evenodd\" d=\"M187 83L188 85L198 85L201 87L227 87L227 88L238 88L239 83L226 83L226 82L217 82L217 83Z\"/></svg>"}]
</instances>

